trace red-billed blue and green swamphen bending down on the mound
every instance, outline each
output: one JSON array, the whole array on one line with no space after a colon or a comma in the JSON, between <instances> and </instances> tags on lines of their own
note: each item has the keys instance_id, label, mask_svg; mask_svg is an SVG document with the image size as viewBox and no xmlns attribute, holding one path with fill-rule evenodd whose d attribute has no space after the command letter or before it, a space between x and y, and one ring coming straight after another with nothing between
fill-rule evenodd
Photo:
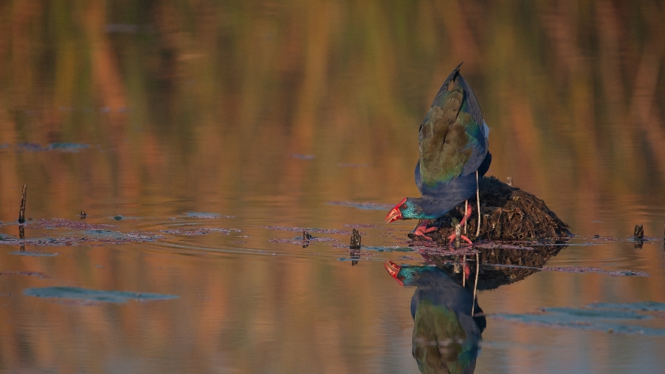
<instances>
[{"instance_id":1,"label":"red-billed blue and green swamphen bending down on the mound","mask_svg":"<svg viewBox=\"0 0 665 374\"><path fill-rule=\"evenodd\" d=\"M426 234L436 230L427 227L430 220L468 202L474 193L479 195L479 179L492 162L489 128L475 94L459 72L461 66L457 65L445 79L418 130L420 157L414 174L422 196L405 197L386 215L387 223L424 219L414 234L427 240L432 239ZM471 206L467 204L462 225L470 215ZM449 238L452 242L455 234ZM472 244L465 235L461 238Z\"/></svg>"}]
</instances>

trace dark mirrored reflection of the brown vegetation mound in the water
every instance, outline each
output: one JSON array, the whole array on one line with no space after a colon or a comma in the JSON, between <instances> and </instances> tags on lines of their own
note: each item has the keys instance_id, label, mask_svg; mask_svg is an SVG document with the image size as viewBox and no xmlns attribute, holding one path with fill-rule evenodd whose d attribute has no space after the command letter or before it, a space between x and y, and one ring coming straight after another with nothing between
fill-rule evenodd
<instances>
[{"instance_id":1,"label":"dark mirrored reflection of the brown vegetation mound in the water","mask_svg":"<svg viewBox=\"0 0 665 374\"><path fill-rule=\"evenodd\" d=\"M529 243L522 244L529 245ZM502 248L500 244L495 244L493 247L476 248L479 251L479 259L482 265L478 274L478 290L494 290L500 285L522 281L527 276L540 271L547 260L552 256L556 256L567 245L565 245L565 242L557 240L548 244L528 247L533 249L515 249L514 245L508 245L507 247L509 248ZM464 271L458 262L462 259L461 256L446 256L443 252L427 253L423 254L423 257L430 262L434 262L436 267L443 269L456 281L462 283ZM465 287L472 289L476 274L475 255L467 255L466 260L470 260L466 263L466 266L469 267L470 276L465 281ZM494 267L491 265L508 266Z\"/></svg>"}]
</instances>

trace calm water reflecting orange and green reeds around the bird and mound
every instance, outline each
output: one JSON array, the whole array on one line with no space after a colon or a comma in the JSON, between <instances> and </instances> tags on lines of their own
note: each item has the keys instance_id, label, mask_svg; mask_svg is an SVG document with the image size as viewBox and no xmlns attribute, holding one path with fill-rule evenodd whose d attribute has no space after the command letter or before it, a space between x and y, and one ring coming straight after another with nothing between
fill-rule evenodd
<instances>
[{"instance_id":1,"label":"calm water reflecting orange and green reeds around the bird and mound","mask_svg":"<svg viewBox=\"0 0 665 374\"><path fill-rule=\"evenodd\" d=\"M0 6L0 373L419 373L383 220L460 61L488 175L578 235L538 267L596 271L482 265L528 276L475 372L665 370L662 1L130 3Z\"/></svg>"}]
</instances>

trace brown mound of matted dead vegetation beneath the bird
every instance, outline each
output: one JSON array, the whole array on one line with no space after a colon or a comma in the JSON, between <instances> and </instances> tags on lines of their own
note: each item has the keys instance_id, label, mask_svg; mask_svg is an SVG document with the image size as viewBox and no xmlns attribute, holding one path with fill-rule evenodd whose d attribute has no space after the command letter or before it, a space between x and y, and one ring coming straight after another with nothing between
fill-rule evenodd
<instances>
[{"instance_id":1,"label":"brown mound of matted dead vegetation beneath the bird","mask_svg":"<svg viewBox=\"0 0 665 374\"><path fill-rule=\"evenodd\" d=\"M571 235L570 227L547 208L545 202L520 188L508 186L495 177L484 177L480 181L481 224L478 224L477 200L468 200L472 208L467 223L467 236L471 240L540 240L543 238L563 238ZM454 233L464 211L464 203L452 211L430 222L438 227L430 234L435 242L445 242ZM420 224L420 222L418 222ZM420 240L412 233L409 238Z\"/></svg>"}]
</instances>

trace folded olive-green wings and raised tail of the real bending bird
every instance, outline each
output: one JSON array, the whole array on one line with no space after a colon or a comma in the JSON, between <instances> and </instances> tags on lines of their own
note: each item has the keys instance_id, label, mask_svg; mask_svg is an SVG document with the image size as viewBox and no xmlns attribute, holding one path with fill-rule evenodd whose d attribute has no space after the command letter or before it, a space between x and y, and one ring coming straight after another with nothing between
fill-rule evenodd
<instances>
[{"instance_id":1,"label":"folded olive-green wings and raised tail of the real bending bird","mask_svg":"<svg viewBox=\"0 0 665 374\"><path fill-rule=\"evenodd\" d=\"M459 175L475 173L486 159L488 141L480 105L459 66L443 83L420 125L418 147L416 184L421 193L436 193Z\"/></svg>"}]
</instances>

